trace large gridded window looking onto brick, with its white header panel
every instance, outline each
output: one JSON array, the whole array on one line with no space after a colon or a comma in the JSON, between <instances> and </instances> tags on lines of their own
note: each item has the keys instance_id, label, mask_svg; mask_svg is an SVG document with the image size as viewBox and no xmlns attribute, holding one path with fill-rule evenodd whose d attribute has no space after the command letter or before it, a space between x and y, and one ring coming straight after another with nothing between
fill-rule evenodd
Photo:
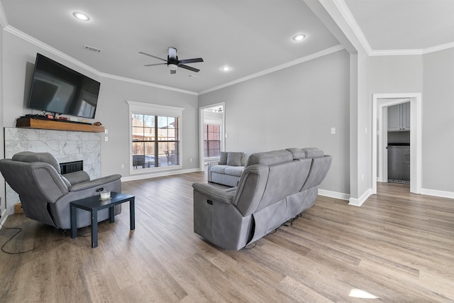
<instances>
[{"instance_id":1,"label":"large gridded window looking onto brick, with its white header panel","mask_svg":"<svg viewBox=\"0 0 454 303\"><path fill-rule=\"evenodd\" d=\"M131 114L131 170L181 167L181 110L170 106L128 103Z\"/></svg>"}]
</instances>

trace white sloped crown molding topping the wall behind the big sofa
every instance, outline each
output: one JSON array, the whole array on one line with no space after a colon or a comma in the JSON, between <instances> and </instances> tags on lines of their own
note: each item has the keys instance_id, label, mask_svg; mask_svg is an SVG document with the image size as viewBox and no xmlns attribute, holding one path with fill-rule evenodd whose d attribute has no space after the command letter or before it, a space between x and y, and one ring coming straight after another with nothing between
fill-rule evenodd
<instances>
[{"instance_id":1,"label":"white sloped crown molding topping the wall behind the big sofa","mask_svg":"<svg viewBox=\"0 0 454 303\"><path fill-rule=\"evenodd\" d=\"M321 50L321 51L319 51L317 53L313 53L311 55L307 55L305 57L301 57L301 58L299 58L297 60L293 60L293 61L284 63L282 65L277 65L275 67L268 68L267 70L262 70L261 72L256 72L255 74L248 75L248 76L240 78L240 79L236 79L236 80L234 80L232 82L228 82L226 84L222 84L222 85L219 85L217 87L212 87L211 89L206 89L203 92L199 92L199 95L206 94L208 92L214 92L214 91L216 91L218 89L223 89L224 87L230 87L233 84L238 84L240 82L245 82L245 81L248 81L250 79L254 79L254 78L257 78L257 77L260 77L260 76L263 76L263 75L270 74L272 72L277 72L278 70L283 70L284 68L287 68L287 67L292 67L294 65L299 65L302 62L306 62L306 61L309 61L309 60L314 60L314 59L316 59L318 57L323 57L323 56L329 55L331 53L336 53L339 50L343 50L343 49L344 49L344 47L341 44L338 44L338 45L333 46L331 48L326 48L325 50Z\"/></svg>"}]
</instances>

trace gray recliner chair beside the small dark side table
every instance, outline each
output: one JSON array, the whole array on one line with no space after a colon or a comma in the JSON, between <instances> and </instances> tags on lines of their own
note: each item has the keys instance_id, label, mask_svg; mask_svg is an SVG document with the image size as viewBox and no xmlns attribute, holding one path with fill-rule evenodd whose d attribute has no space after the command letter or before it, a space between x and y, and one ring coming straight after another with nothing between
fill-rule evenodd
<instances>
[{"instance_id":1,"label":"gray recliner chair beside the small dark side table","mask_svg":"<svg viewBox=\"0 0 454 303\"><path fill-rule=\"evenodd\" d=\"M50 153L21 152L0 160L0 172L19 194L23 213L30 219L62 229L71 228L70 202L99 196L102 190L121 192L121 175L90 180L87 172L60 175L60 165ZM77 209L77 227L89 226L89 211ZM115 206L120 214L121 205ZM109 209L98 212L98 221L109 219Z\"/></svg>"}]
</instances>

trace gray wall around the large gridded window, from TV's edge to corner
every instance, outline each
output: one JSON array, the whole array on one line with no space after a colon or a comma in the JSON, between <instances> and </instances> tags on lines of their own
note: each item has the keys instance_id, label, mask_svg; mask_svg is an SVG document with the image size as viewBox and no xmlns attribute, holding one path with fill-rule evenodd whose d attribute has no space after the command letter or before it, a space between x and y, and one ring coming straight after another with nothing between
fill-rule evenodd
<instances>
[{"instance_id":1,"label":"gray wall around the large gridded window, from TV's edge to corner","mask_svg":"<svg viewBox=\"0 0 454 303\"><path fill-rule=\"evenodd\" d=\"M121 173L123 177L129 176L129 120L131 117L126 100L184 108L182 116L183 169L199 167L199 121L196 95L102 78L96 120L101 121L109 130L109 133L105 135L109 137L109 141L101 140L103 175ZM192 162L189 162L189 159L192 159ZM125 165L124 169L121 169L121 164Z\"/></svg>"}]
</instances>

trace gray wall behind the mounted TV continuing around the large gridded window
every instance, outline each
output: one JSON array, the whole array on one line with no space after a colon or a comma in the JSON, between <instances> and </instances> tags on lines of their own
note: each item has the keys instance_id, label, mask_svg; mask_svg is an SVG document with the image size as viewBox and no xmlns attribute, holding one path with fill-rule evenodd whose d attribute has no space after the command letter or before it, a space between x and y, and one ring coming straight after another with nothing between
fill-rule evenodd
<instances>
[{"instance_id":1,"label":"gray wall behind the mounted TV continuing around the large gridded window","mask_svg":"<svg viewBox=\"0 0 454 303\"><path fill-rule=\"evenodd\" d=\"M148 85L124 82L119 79L99 77L94 72L84 70L74 63L63 60L61 57L57 57L53 53L28 43L11 33L4 32L3 38L2 49L4 50L4 57L8 58L8 60L3 60L3 75L8 75L8 77L4 77L2 111L4 126L13 127L19 116L32 113L32 110L27 108L26 99L36 53L42 53L101 82L96 117L93 120L87 119L88 122L100 121L109 130L109 133L105 135L109 137L109 141L101 140L101 175L119 173L123 177L130 176L130 117L126 100L183 107L182 169L196 170L199 167L198 106L195 94L184 94L167 89L157 89ZM39 114L38 111L33 111L33 113ZM3 144L3 139L1 142ZM192 159L192 162L189 162L189 159ZM124 164L125 168L122 169L121 164ZM144 174L148 175L150 172L144 172Z\"/></svg>"}]
</instances>

